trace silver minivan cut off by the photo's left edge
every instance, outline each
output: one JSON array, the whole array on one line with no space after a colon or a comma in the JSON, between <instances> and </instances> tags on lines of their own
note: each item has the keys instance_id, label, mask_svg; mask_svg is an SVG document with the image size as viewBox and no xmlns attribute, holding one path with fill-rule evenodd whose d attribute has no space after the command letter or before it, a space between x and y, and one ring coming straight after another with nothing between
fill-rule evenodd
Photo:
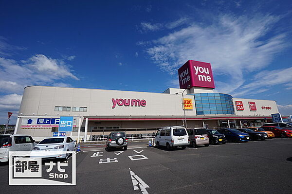
<instances>
[{"instance_id":1,"label":"silver minivan cut off by the photo's left edge","mask_svg":"<svg viewBox=\"0 0 292 194\"><path fill-rule=\"evenodd\" d=\"M32 151L34 143L29 135L0 135L0 162L9 160L10 151Z\"/></svg>"}]
</instances>

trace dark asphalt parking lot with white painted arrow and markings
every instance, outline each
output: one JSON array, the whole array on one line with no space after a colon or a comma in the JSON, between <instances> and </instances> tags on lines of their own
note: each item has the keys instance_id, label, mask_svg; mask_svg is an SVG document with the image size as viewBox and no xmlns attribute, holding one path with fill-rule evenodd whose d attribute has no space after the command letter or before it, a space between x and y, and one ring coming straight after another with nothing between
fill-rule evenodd
<instances>
[{"instance_id":1,"label":"dark asphalt parking lot with white painted arrow and markings","mask_svg":"<svg viewBox=\"0 0 292 194\"><path fill-rule=\"evenodd\" d=\"M0 166L0 184L1 193L288 194L291 173L291 138L170 151L140 142L126 151L83 148L76 186L9 186L7 164Z\"/></svg>"}]
</instances>

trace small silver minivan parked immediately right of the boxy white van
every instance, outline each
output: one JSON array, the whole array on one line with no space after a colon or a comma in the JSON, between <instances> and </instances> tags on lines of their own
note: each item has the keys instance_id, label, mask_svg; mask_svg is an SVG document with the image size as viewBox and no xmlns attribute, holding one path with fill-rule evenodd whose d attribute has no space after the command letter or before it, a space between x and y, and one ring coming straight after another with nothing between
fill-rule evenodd
<instances>
[{"instance_id":1,"label":"small silver minivan parked immediately right of the boxy white van","mask_svg":"<svg viewBox=\"0 0 292 194\"><path fill-rule=\"evenodd\" d=\"M197 147L198 145L209 146L209 136L205 128L186 129L190 139L190 146Z\"/></svg>"}]
</instances>

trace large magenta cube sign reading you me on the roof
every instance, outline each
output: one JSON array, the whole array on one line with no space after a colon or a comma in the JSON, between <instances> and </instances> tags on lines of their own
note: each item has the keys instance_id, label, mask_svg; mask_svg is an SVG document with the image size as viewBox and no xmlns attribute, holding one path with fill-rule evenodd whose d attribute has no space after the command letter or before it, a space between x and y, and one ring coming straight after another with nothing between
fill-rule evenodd
<instances>
[{"instance_id":1,"label":"large magenta cube sign reading you me on the roof","mask_svg":"<svg viewBox=\"0 0 292 194\"><path fill-rule=\"evenodd\" d=\"M191 87L215 88L211 64L188 60L179 68L180 88Z\"/></svg>"}]
</instances>

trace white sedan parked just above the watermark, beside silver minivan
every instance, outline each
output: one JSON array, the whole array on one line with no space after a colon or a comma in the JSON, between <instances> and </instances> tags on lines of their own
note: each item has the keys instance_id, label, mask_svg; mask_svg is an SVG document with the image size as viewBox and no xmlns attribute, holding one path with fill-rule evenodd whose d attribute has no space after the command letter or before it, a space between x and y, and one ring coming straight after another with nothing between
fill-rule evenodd
<instances>
[{"instance_id":1,"label":"white sedan parked just above the watermark, beside silver minivan","mask_svg":"<svg viewBox=\"0 0 292 194\"><path fill-rule=\"evenodd\" d=\"M76 142L71 137L50 137L40 141L33 151L76 151ZM69 158L67 154L48 154L43 158L63 158L67 160Z\"/></svg>"}]
</instances>

